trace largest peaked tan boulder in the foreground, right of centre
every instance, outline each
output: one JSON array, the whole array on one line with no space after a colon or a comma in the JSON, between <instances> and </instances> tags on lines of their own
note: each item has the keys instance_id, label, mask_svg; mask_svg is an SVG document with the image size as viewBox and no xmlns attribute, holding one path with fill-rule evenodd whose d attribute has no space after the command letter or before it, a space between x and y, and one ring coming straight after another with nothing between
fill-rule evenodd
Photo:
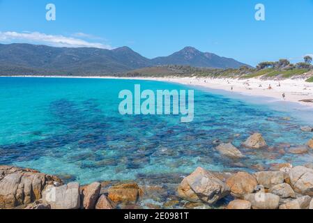
<instances>
[{"instance_id":1,"label":"largest peaked tan boulder in the foreground, right of centre","mask_svg":"<svg viewBox=\"0 0 313 223\"><path fill-rule=\"evenodd\" d=\"M213 173L198 167L178 187L178 195L191 202L213 204L229 194L229 187Z\"/></svg>"}]
</instances>

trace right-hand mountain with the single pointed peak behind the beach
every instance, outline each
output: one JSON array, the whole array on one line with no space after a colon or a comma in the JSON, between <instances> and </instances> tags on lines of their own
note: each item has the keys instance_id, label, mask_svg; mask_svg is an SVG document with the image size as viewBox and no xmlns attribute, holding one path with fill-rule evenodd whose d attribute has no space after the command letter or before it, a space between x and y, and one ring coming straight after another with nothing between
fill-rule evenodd
<instances>
[{"instance_id":1,"label":"right-hand mountain with the single pointed peak behind the beach","mask_svg":"<svg viewBox=\"0 0 313 223\"><path fill-rule=\"evenodd\" d=\"M152 60L157 66L162 65L184 65L200 68L240 68L247 66L245 63L238 62L234 59L217 56L216 54L200 52L194 47L185 47L179 52L170 56L157 57Z\"/></svg>"}]
</instances>

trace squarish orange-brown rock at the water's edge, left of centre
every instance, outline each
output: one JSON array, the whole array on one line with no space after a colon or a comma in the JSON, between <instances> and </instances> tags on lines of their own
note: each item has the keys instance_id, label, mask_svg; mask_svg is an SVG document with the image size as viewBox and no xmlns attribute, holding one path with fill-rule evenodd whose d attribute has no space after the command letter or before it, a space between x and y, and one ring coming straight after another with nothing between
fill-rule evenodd
<instances>
[{"instance_id":1,"label":"squarish orange-brown rock at the water's edge, left of centre","mask_svg":"<svg viewBox=\"0 0 313 223\"><path fill-rule=\"evenodd\" d=\"M144 191L137 183L121 184L109 188L109 199L116 203L137 202L142 197Z\"/></svg>"}]
</instances>

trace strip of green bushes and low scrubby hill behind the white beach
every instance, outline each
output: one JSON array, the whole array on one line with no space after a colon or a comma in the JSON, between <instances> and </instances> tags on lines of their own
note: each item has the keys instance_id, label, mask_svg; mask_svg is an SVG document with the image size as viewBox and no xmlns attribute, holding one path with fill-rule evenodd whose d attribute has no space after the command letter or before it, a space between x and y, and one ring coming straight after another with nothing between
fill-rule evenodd
<instances>
[{"instance_id":1,"label":"strip of green bushes and low scrubby hill behind the white beach","mask_svg":"<svg viewBox=\"0 0 313 223\"><path fill-rule=\"evenodd\" d=\"M151 68L141 68L119 74L127 77L212 77L212 78L261 78L261 79L288 79L303 77L307 82L313 82L312 57L305 56L304 62L290 63L287 59L279 61L261 62L256 68L242 66L241 68L214 69L195 68L192 66L157 66Z\"/></svg>"}]
</instances>

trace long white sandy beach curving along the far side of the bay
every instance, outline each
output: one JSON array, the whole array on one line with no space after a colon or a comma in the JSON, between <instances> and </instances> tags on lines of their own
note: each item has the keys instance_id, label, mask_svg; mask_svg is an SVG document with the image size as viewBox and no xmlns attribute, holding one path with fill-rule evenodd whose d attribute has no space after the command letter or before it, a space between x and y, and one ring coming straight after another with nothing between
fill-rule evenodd
<instances>
[{"instance_id":1,"label":"long white sandy beach curving along the far side of the bay","mask_svg":"<svg viewBox=\"0 0 313 223\"><path fill-rule=\"evenodd\" d=\"M300 100L313 100L313 83L305 82L305 79L263 80L263 79L219 79L210 77L112 77L112 76L43 76L21 75L0 77L38 77L38 78L76 78L76 79L134 79L159 82L172 82L187 86L197 86L205 89L222 90L228 93L234 92L240 95L252 97L273 98L277 102L294 102L305 107L313 107L313 102L300 102ZM271 86L272 89L268 89ZM285 100L282 94L286 95Z\"/></svg>"}]
</instances>

